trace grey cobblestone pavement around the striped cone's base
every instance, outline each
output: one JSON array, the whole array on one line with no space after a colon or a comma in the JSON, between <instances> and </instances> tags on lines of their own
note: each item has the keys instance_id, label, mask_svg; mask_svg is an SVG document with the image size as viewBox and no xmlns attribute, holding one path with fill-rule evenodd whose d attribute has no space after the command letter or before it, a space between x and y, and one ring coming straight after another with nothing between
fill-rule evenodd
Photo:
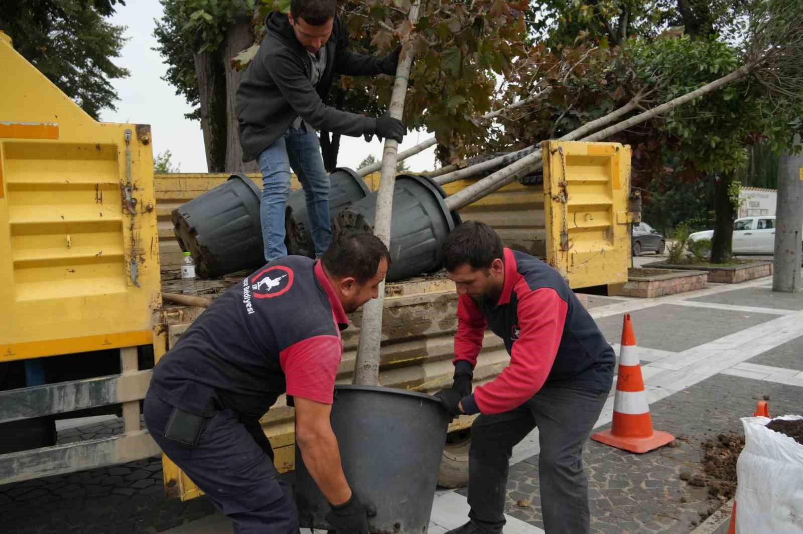
<instances>
[{"instance_id":1,"label":"grey cobblestone pavement around the striped cone's base","mask_svg":"<svg viewBox=\"0 0 803 534\"><path fill-rule=\"evenodd\" d=\"M729 431L744 435L739 418L752 415L764 395L769 395L771 415L801 411L800 387L719 374L650 405L655 429L675 435L678 447L636 455L589 439L584 460L592 532L690 532L692 521L699 523L700 514L707 515L720 503L707 497L707 488L690 487L680 480L680 472L700 469L700 443L705 439ZM723 403L724 399L728 402ZM537 455L511 467L505 512L544 528Z\"/></svg>"}]
</instances>

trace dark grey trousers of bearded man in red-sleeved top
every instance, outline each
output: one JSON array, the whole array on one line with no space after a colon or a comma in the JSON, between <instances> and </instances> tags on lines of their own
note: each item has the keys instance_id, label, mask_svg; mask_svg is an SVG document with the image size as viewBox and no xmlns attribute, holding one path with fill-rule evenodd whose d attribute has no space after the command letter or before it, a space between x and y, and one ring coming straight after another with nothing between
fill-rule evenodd
<instances>
[{"instance_id":1,"label":"dark grey trousers of bearded man in red-sleeved top","mask_svg":"<svg viewBox=\"0 0 803 534\"><path fill-rule=\"evenodd\" d=\"M589 483L583 444L599 418L608 391L544 386L516 410L479 415L471 426L469 517L499 533L505 524L508 462L513 446L538 427L538 478L546 534L588 534Z\"/></svg>"}]
</instances>

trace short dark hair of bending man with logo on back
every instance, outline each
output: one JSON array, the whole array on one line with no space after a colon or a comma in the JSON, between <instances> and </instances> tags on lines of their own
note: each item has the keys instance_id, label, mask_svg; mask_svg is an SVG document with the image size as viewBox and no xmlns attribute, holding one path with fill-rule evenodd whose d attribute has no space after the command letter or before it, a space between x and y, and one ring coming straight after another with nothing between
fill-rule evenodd
<instances>
[{"instance_id":1,"label":"short dark hair of bending man with logo on back","mask_svg":"<svg viewBox=\"0 0 803 534\"><path fill-rule=\"evenodd\" d=\"M321 261L332 276L354 277L358 284L365 284L377 276L383 257L390 269L390 253L385 243L373 233L358 233L332 242Z\"/></svg>"}]
</instances>

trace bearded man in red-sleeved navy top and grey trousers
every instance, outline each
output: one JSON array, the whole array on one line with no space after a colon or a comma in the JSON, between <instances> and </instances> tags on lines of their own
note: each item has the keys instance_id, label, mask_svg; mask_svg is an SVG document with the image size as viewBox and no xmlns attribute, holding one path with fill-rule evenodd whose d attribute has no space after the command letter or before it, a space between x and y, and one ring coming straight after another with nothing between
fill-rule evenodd
<instances>
[{"instance_id":1,"label":"bearded man in red-sleeved navy top and grey trousers","mask_svg":"<svg viewBox=\"0 0 803 534\"><path fill-rule=\"evenodd\" d=\"M504 249L493 229L469 221L443 245L460 296L454 383L437 396L471 427L469 522L449 534L499 534L512 448L539 429L541 512L546 534L589 532L583 443L613 382L613 349L560 274ZM504 340L510 365L471 393L486 328Z\"/></svg>"}]
</instances>

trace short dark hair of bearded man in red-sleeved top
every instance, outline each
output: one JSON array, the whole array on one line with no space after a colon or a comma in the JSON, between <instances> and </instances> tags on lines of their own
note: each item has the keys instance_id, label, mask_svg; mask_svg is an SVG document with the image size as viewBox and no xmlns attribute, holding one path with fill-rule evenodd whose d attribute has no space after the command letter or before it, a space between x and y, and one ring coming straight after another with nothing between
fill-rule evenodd
<instances>
[{"instance_id":1,"label":"short dark hair of bearded man in red-sleeved top","mask_svg":"<svg viewBox=\"0 0 803 534\"><path fill-rule=\"evenodd\" d=\"M489 269L496 259L504 259L504 247L499 235L490 226L477 220L467 220L452 230L441 249L443 266L454 271L467 263L471 269Z\"/></svg>"}]
</instances>

